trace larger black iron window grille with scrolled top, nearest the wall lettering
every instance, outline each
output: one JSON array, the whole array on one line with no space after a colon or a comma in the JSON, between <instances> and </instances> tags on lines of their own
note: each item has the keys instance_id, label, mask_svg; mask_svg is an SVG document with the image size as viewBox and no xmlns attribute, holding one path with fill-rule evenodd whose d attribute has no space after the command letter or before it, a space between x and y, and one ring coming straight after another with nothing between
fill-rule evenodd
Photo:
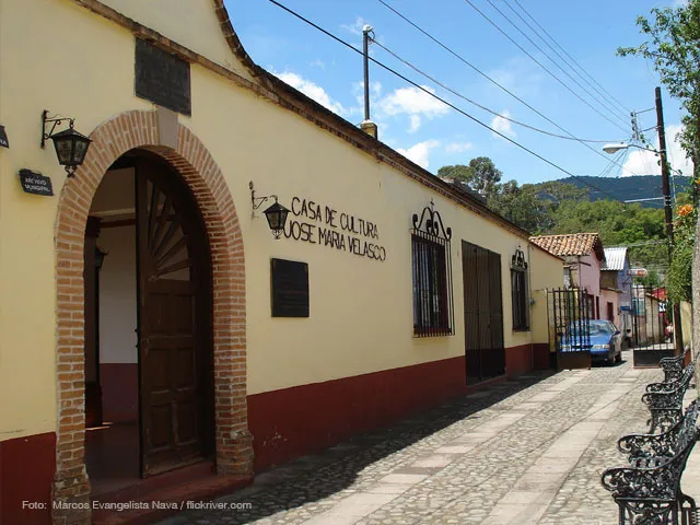
<instances>
[{"instance_id":1,"label":"larger black iron window grille with scrolled top, nearest the wall lettering","mask_svg":"<svg viewBox=\"0 0 700 525\"><path fill-rule=\"evenodd\" d=\"M452 336L455 332L452 295L452 230L440 213L425 207L413 215L411 231L413 336Z\"/></svg>"}]
</instances>

